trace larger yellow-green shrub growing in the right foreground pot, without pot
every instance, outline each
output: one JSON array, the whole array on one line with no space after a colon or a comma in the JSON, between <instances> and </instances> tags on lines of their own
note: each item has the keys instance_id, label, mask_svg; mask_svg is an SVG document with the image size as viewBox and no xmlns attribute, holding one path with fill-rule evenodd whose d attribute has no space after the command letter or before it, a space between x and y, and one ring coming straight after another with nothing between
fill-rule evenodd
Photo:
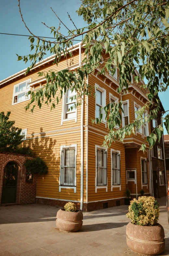
<instances>
[{"instance_id":1,"label":"larger yellow-green shrub growing in the right foreground pot, without pot","mask_svg":"<svg viewBox=\"0 0 169 256\"><path fill-rule=\"evenodd\" d=\"M152 196L142 196L130 202L126 214L132 224L139 226L154 226L159 219L159 204Z\"/></svg>"}]
</instances>

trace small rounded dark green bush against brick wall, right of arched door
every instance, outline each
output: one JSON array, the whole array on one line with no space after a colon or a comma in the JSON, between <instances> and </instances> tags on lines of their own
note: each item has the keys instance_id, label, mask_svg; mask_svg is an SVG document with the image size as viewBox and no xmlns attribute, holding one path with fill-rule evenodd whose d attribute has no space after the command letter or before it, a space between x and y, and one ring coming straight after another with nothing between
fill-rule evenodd
<instances>
[{"instance_id":1,"label":"small rounded dark green bush against brick wall, right of arched door","mask_svg":"<svg viewBox=\"0 0 169 256\"><path fill-rule=\"evenodd\" d=\"M24 166L26 167L27 174L34 173L42 175L47 173L47 165L40 157L33 158L32 160L26 159Z\"/></svg>"}]
</instances>

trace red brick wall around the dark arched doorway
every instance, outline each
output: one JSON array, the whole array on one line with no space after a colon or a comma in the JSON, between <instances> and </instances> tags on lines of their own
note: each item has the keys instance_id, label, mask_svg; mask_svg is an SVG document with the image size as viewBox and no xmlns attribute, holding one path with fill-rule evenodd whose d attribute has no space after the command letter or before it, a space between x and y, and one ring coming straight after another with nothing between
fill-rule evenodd
<instances>
[{"instance_id":1,"label":"red brick wall around the dark arched doorway","mask_svg":"<svg viewBox=\"0 0 169 256\"><path fill-rule=\"evenodd\" d=\"M36 198L36 175L33 175L32 182L26 182L26 169L23 165L26 159L32 159L19 154L2 153L0 152L0 204L2 197L2 186L4 177L4 168L10 161L14 161L18 165L18 179L17 179L17 193L16 203L17 204L28 204L35 203Z\"/></svg>"}]
</instances>

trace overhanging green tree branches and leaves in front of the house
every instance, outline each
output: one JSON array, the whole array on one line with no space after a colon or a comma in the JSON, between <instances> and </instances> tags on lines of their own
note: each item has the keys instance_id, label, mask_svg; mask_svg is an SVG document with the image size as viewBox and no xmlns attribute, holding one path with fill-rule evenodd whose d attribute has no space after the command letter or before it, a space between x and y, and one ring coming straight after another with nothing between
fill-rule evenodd
<instances>
[{"instance_id":1,"label":"overhanging green tree branches and leaves in front of the house","mask_svg":"<svg viewBox=\"0 0 169 256\"><path fill-rule=\"evenodd\" d=\"M108 147L115 140L123 142L126 135L135 133L136 127L141 128L144 126L144 122L150 121L161 111L158 92L165 91L169 85L169 1L82 0L81 2L82 5L77 13L83 17L87 26L78 29L75 27L75 30L70 30L60 21L67 27L68 33L62 35L60 25L59 28L50 27L55 38L54 41L34 35L21 14L22 21L32 34L29 40L31 51L34 50L34 53L29 55L18 55L18 60L22 59L25 63L28 60L31 61L31 66L26 73L34 67L37 61L43 59L47 51L56 55L54 68L48 72L39 72L39 76L45 76L46 85L36 92L29 92L31 101L26 106L26 110L31 107L31 111L33 111L36 105L41 108L44 103L50 105L51 110L56 108L68 88L75 89L77 92L77 103L75 104L77 107L81 104L84 95L91 96L93 87L87 84L87 76L98 68L101 74L111 71L113 75L115 68L118 68L120 74L119 99L117 103L103 107L109 129L109 134L105 136L103 145ZM20 3L19 10L21 13ZM64 56L69 54L72 57L69 47L73 45L74 39L82 35L84 36L85 54L88 56L83 60L82 67L78 70L70 70L70 67L67 67L67 69L58 71L57 66L61 54ZM37 38L37 42L35 42L35 38ZM103 63L101 63L102 56L104 57ZM111 66L112 64L115 68ZM136 69L139 71L141 79L136 75ZM123 112L123 109L120 97L128 89L132 76L136 83L139 83L140 80L147 81L145 85L141 86L148 89L149 100L138 111L137 118L132 123L121 129L114 129L121 123L119 110ZM153 101L153 99L155 100ZM155 105L155 108L152 109L152 105ZM143 118L146 108L150 108L150 113ZM101 120L102 114L96 121L99 124ZM163 123L169 133L169 115L164 118ZM162 133L163 128L159 126L147 136L150 147L155 144L157 139L160 140ZM143 143L141 150L145 149L146 144Z\"/></svg>"}]
</instances>

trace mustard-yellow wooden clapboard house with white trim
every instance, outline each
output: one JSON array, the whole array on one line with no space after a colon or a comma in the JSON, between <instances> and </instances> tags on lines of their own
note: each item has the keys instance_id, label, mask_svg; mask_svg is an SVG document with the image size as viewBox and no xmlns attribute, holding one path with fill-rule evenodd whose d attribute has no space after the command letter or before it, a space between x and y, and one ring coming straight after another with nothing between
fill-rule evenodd
<instances>
[{"instance_id":1,"label":"mustard-yellow wooden clapboard house with white trim","mask_svg":"<svg viewBox=\"0 0 169 256\"><path fill-rule=\"evenodd\" d=\"M74 45L72 52L73 62L70 56L67 59L62 56L57 70L67 68L70 63L73 63L71 69L81 67L84 58L81 43ZM45 77L38 77L38 72L53 68L54 59L52 55L37 63L26 76L22 70L0 82L0 112L11 111L11 120L15 120L25 134L23 144L30 145L48 166L48 173L37 177L36 202L63 206L72 201L78 208L94 210L123 204L126 187L132 197L138 197L141 189L145 195L152 194L148 143L145 153L139 151L150 133L150 123L136 129L136 135L124 138L124 143L112 143L109 149L100 147L108 134L107 123L91 123L91 119L98 117L101 106L119 98L118 70L113 77L98 74L99 70L88 76L88 83L98 87L72 112L67 112L70 97L75 94L70 90L51 112L46 104L41 110L36 107L33 114L25 112L24 107L29 102L27 92L45 84ZM122 126L132 122L135 111L148 100L148 91L140 87L140 83L136 84L133 79L127 93L121 96ZM149 109L145 115L148 113Z\"/></svg>"}]
</instances>

